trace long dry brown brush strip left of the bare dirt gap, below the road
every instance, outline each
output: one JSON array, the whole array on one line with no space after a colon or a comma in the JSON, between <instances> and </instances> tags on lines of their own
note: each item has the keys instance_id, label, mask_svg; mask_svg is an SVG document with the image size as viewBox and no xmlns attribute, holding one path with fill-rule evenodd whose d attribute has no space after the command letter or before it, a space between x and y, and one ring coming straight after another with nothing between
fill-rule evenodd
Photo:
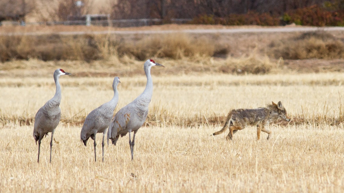
<instances>
[{"instance_id":1,"label":"long dry brown brush strip left of the bare dirt gap, below the road","mask_svg":"<svg viewBox=\"0 0 344 193\"><path fill-rule=\"evenodd\" d=\"M215 46L207 39L185 34L142 38L138 42L117 41L106 35L0 36L0 60L36 58L48 60L98 60L109 55L128 55L139 60L149 57L180 59L213 56ZM224 48L220 53L226 52Z\"/></svg>"}]
</instances>

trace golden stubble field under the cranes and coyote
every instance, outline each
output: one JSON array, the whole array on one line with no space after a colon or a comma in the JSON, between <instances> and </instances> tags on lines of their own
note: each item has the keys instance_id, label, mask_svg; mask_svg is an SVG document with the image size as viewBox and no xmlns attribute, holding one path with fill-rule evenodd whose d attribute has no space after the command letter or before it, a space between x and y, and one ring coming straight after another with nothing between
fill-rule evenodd
<instances>
[{"instance_id":1,"label":"golden stubble field under the cranes and coyote","mask_svg":"<svg viewBox=\"0 0 344 193\"><path fill-rule=\"evenodd\" d=\"M85 147L79 139L86 115L112 98L113 77L63 76L62 122L54 134L52 163L50 135L42 140L37 163L30 118L54 95L54 70L51 77L0 79L1 192L344 190L341 73L154 76L165 68L153 67L153 98L147 124L136 135L134 160L127 135L117 146L105 146L104 163L94 162L92 140ZM120 78L116 111L135 99L146 83L144 75ZM257 141L256 129L247 127L226 141L227 132L211 136L222 123L204 121L271 101L282 101L293 119L271 125L269 140L262 133ZM20 119L27 119L27 125ZM101 137L96 138L98 160Z\"/></svg>"}]
</instances>

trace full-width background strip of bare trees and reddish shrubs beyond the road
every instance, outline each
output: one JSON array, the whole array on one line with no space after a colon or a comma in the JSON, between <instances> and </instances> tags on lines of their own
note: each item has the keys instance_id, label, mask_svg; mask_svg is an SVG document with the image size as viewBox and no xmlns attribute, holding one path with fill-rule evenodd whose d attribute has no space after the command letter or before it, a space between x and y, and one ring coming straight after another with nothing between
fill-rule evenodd
<instances>
[{"instance_id":1,"label":"full-width background strip of bare trees and reddish shrubs beyond the road","mask_svg":"<svg viewBox=\"0 0 344 193\"><path fill-rule=\"evenodd\" d=\"M77 20L96 0L0 0L2 20ZM344 0L116 0L101 13L111 19L193 19L195 24L344 25Z\"/></svg>"}]
</instances>

